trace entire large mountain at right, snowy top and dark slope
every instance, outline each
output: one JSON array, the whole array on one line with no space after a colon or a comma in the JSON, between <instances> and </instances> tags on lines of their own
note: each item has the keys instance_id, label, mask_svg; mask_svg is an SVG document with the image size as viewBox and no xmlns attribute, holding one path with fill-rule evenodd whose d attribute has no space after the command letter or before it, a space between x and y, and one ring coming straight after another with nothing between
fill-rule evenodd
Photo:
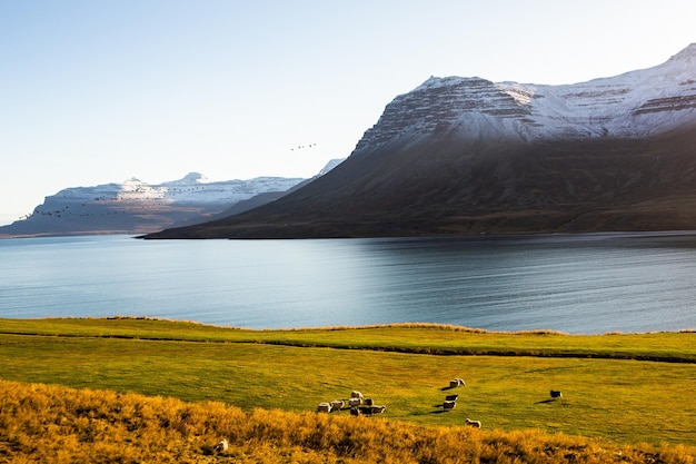
<instances>
[{"instance_id":1,"label":"entire large mountain at right, snowy top and dark slope","mask_svg":"<svg viewBox=\"0 0 696 464\"><path fill-rule=\"evenodd\" d=\"M666 229L696 229L696 43L575 85L431 77L326 176L146 238Z\"/></svg>"}]
</instances>

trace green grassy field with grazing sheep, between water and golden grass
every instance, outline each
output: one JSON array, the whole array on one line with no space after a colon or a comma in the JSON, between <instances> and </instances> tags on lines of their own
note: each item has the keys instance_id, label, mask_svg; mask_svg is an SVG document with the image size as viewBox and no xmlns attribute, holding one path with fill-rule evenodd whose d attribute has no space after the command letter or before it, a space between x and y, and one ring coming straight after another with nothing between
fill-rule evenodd
<instances>
[{"instance_id":1,"label":"green grassy field with grazing sheep, between water and golden grass","mask_svg":"<svg viewBox=\"0 0 696 464\"><path fill-rule=\"evenodd\" d=\"M447 389L455 377L466 387ZM243 411L315 411L358 389L387 406L379 419L453 426L470 417L488 430L696 446L695 333L241 330L151 319L0 319L0 379ZM550 401L551 388L563 399ZM457 407L444 413L451 393L459 394Z\"/></svg>"}]
</instances>

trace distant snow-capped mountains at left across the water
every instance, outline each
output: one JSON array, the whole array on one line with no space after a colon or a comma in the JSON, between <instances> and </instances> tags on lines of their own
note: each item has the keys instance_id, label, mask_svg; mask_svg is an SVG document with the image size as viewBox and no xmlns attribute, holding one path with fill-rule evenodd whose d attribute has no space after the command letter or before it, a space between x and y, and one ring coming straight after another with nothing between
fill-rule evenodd
<instances>
[{"instance_id":1,"label":"distant snow-capped mountains at left across the water","mask_svg":"<svg viewBox=\"0 0 696 464\"><path fill-rule=\"evenodd\" d=\"M1 237L147 234L227 217L274 201L320 177L341 160L335 159L314 178L258 177L209 181L198 172L180 180L150 185L137 178L95 187L72 187L44 198L31 215L0 227Z\"/></svg>"}]
</instances>

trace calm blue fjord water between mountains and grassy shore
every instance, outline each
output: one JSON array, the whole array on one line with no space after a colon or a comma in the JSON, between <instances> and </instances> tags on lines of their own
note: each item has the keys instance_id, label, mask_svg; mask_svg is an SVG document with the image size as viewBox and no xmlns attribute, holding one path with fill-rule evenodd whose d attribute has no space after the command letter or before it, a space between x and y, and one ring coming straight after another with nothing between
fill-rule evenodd
<instances>
[{"instance_id":1,"label":"calm blue fjord water between mountains and grassy shore","mask_svg":"<svg viewBox=\"0 0 696 464\"><path fill-rule=\"evenodd\" d=\"M0 240L0 317L249 328L441 323L696 328L696 234L311 240Z\"/></svg>"}]
</instances>

